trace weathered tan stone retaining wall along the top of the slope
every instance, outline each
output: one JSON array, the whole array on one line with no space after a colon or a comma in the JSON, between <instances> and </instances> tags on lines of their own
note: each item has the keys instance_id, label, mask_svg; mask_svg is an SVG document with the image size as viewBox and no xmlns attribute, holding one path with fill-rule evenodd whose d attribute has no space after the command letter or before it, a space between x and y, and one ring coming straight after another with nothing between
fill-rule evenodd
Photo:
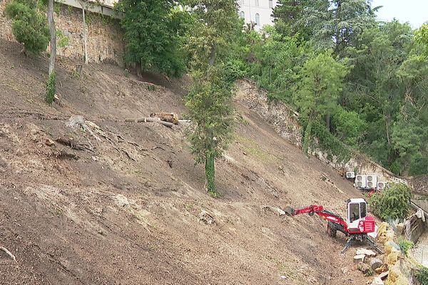
<instances>
[{"instance_id":1,"label":"weathered tan stone retaining wall along the top of the slope","mask_svg":"<svg viewBox=\"0 0 428 285\"><path fill-rule=\"evenodd\" d=\"M3 16L4 7L10 0L0 0L0 38L14 41L11 21ZM83 20L82 10L59 4L56 9L56 29L61 33L57 38L58 56L66 56L83 61ZM90 62L110 62L123 65L123 31L118 20L101 14L88 13L88 59ZM60 46L61 38L66 46Z\"/></svg>"}]
</instances>

